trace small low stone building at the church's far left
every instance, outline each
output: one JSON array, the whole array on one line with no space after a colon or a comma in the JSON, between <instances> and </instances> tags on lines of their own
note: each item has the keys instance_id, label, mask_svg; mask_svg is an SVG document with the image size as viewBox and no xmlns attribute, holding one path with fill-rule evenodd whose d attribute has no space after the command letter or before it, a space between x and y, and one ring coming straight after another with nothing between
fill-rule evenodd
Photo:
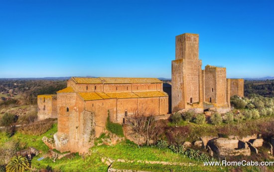
<instances>
[{"instance_id":1,"label":"small low stone building at the church's far left","mask_svg":"<svg viewBox=\"0 0 274 172\"><path fill-rule=\"evenodd\" d=\"M38 95L37 105L38 120L57 118L57 95Z\"/></svg>"}]
</instances>

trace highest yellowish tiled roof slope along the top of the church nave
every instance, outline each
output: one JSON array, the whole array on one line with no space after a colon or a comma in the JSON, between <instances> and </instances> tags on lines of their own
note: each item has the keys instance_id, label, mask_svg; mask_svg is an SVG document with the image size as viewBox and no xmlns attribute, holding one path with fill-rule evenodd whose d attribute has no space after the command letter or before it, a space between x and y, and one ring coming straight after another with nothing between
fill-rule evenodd
<instances>
[{"instance_id":1,"label":"highest yellowish tiled roof slope along the top of the church nave","mask_svg":"<svg viewBox=\"0 0 274 172\"><path fill-rule=\"evenodd\" d=\"M72 77L77 84L144 84L144 83L162 83L157 78L81 78Z\"/></svg>"}]
</instances>

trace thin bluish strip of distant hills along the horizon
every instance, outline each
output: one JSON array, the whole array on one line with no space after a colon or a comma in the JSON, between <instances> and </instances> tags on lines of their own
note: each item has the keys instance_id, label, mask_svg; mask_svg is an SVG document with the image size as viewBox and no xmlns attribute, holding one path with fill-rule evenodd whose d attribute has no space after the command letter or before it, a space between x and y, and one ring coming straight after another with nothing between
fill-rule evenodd
<instances>
[{"instance_id":1,"label":"thin bluish strip of distant hills along the horizon","mask_svg":"<svg viewBox=\"0 0 274 172\"><path fill-rule=\"evenodd\" d=\"M94 76L86 76L90 78L96 78ZM65 77L43 77L43 78L0 78L0 80L68 80L71 76L65 76ZM158 78L162 81L168 81L171 80L171 78ZM274 76L267 76L262 78L244 78L245 80L274 80Z\"/></svg>"}]
</instances>

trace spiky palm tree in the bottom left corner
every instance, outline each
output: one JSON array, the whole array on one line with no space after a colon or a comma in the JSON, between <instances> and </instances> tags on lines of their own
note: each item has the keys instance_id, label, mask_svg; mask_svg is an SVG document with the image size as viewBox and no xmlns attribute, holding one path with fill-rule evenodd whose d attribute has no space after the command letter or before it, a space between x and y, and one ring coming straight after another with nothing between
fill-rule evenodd
<instances>
[{"instance_id":1,"label":"spiky palm tree in the bottom left corner","mask_svg":"<svg viewBox=\"0 0 274 172\"><path fill-rule=\"evenodd\" d=\"M6 172L24 172L29 169L28 160L22 156L13 157L6 166Z\"/></svg>"}]
</instances>

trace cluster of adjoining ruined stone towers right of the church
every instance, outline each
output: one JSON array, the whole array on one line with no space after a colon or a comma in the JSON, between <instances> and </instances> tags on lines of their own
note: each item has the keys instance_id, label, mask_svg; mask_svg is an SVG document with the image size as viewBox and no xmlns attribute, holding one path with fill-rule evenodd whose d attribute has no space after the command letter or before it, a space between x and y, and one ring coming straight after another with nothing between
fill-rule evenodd
<instances>
[{"instance_id":1,"label":"cluster of adjoining ruined stone towers right of the church","mask_svg":"<svg viewBox=\"0 0 274 172\"><path fill-rule=\"evenodd\" d=\"M207 65L199 60L199 35L176 36L175 60L172 61L172 112L203 112L215 108L230 111L230 96L243 96L243 79L226 79L226 68Z\"/></svg>"}]
</instances>

